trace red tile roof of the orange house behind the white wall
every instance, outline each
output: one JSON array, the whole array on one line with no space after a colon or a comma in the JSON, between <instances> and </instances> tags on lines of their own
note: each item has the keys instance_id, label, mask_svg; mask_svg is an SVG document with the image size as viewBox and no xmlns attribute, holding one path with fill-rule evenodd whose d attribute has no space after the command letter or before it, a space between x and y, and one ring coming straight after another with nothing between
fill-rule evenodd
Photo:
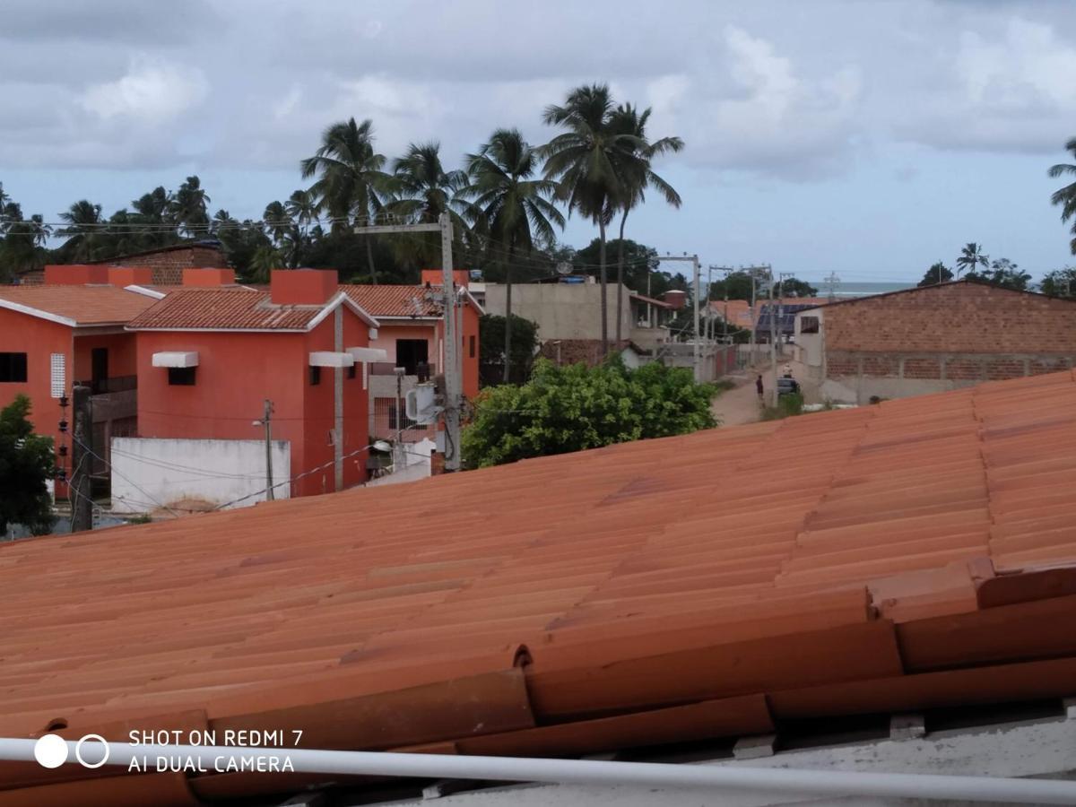
<instances>
[{"instance_id":1,"label":"red tile roof of the orange house behind the white wall","mask_svg":"<svg viewBox=\"0 0 1076 807\"><path fill-rule=\"evenodd\" d=\"M151 302L154 302L151 300ZM330 305L329 303L326 305ZM183 286L136 318L131 330L307 330L326 306L282 306L243 286ZM363 315L366 315L363 312ZM376 323L371 323L374 324Z\"/></svg>"}]
</instances>

